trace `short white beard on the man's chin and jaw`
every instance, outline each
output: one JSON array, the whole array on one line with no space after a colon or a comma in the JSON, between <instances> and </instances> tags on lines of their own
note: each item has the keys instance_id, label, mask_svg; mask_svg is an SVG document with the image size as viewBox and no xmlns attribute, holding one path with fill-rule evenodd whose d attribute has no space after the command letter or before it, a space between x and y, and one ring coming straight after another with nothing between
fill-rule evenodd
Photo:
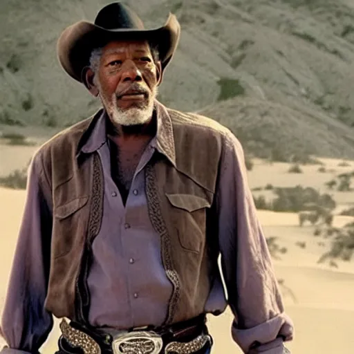
<instances>
[{"instance_id":1,"label":"short white beard on the man's chin and jaw","mask_svg":"<svg viewBox=\"0 0 354 354\"><path fill-rule=\"evenodd\" d=\"M153 113L153 103L158 90L154 89L149 102L142 107L132 107L129 109L120 109L117 105L117 97L112 95L112 100L106 104L106 111L114 124L129 126L141 125L149 122Z\"/></svg>"}]
</instances>

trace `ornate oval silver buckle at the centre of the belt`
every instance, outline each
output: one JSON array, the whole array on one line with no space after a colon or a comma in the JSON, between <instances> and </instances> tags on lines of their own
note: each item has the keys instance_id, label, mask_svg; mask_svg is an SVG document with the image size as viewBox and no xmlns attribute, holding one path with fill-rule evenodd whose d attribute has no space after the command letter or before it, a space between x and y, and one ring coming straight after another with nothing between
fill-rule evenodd
<instances>
[{"instance_id":1,"label":"ornate oval silver buckle at the centre of the belt","mask_svg":"<svg viewBox=\"0 0 354 354\"><path fill-rule=\"evenodd\" d=\"M162 338L153 331L129 332L113 338L114 354L158 354L162 349Z\"/></svg>"}]
</instances>

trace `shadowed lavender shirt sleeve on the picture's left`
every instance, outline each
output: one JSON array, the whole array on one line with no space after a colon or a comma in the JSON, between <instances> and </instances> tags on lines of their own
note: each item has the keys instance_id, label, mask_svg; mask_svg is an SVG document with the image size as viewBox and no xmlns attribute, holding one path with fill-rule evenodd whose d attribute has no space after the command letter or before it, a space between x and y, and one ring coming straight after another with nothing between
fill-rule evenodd
<instances>
[{"instance_id":1,"label":"shadowed lavender shirt sleeve on the picture's left","mask_svg":"<svg viewBox=\"0 0 354 354\"><path fill-rule=\"evenodd\" d=\"M8 346L1 353L38 353L53 328L53 316L44 308L53 221L50 194L37 153L28 168L24 215L1 319L0 334Z\"/></svg>"}]
</instances>

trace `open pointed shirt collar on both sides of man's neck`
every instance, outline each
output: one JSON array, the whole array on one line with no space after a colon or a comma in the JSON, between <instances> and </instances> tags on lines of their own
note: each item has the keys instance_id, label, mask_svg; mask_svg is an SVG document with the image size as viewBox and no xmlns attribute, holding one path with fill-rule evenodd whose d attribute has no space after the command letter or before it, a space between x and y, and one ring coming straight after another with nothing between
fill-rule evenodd
<instances>
[{"instance_id":1,"label":"open pointed shirt collar on both sides of man's neck","mask_svg":"<svg viewBox=\"0 0 354 354\"><path fill-rule=\"evenodd\" d=\"M155 101L154 109L157 120L157 131L150 145L165 155L172 165L176 167L174 130L171 117L166 107L157 100ZM93 153L97 151L106 141L106 112L104 109L101 109L93 116L91 123L82 134L77 147L77 156L80 156L81 153Z\"/></svg>"}]
</instances>

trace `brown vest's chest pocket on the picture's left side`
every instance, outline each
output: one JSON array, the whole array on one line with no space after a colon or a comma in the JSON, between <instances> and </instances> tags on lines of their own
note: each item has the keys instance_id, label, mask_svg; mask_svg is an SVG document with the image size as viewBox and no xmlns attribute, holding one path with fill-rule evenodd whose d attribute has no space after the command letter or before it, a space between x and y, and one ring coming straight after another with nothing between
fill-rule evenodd
<instances>
[{"instance_id":1,"label":"brown vest's chest pocket on the picture's left side","mask_svg":"<svg viewBox=\"0 0 354 354\"><path fill-rule=\"evenodd\" d=\"M70 252L75 241L86 235L88 220L84 216L88 213L83 211L87 201L88 196L82 196L55 208L52 245L55 258Z\"/></svg>"}]
</instances>

